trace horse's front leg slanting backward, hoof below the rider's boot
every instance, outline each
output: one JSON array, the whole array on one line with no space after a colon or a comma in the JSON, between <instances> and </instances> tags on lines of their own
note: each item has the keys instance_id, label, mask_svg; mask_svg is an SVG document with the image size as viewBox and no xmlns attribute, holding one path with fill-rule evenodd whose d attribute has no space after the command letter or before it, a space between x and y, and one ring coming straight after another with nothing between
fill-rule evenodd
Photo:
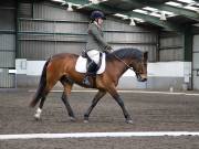
<instances>
[{"instance_id":1,"label":"horse's front leg slanting backward, hoof below the rider's boot","mask_svg":"<svg viewBox=\"0 0 199 149\"><path fill-rule=\"evenodd\" d=\"M88 107L86 113L84 114L84 123L88 123L88 117L93 108L96 106L98 100L106 94L106 91L98 91L98 93L95 95L95 97L92 100L92 105Z\"/></svg>"}]
</instances>

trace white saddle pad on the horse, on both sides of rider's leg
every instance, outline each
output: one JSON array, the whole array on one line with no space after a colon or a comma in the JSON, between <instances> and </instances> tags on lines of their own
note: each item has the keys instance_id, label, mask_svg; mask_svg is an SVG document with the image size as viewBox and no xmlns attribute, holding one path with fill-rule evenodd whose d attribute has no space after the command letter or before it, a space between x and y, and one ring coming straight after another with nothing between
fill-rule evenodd
<instances>
[{"instance_id":1,"label":"white saddle pad on the horse, on both sides of rider's leg","mask_svg":"<svg viewBox=\"0 0 199 149\"><path fill-rule=\"evenodd\" d=\"M86 62L87 62L87 58L78 56L78 58L76 61L76 65L75 65L76 72L78 72L78 73L86 73ZM101 65L101 67L97 71L96 74L102 74L105 71L105 67L106 67L106 63L105 62L106 62L106 55L103 53L102 65Z\"/></svg>"}]
</instances>

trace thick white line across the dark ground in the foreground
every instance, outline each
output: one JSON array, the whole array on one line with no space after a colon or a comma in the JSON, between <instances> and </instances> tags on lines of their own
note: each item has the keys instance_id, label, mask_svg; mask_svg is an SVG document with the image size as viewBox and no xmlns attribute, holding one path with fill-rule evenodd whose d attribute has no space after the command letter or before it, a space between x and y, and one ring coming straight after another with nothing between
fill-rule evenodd
<instances>
[{"instance_id":1,"label":"thick white line across the dark ground in the foreground","mask_svg":"<svg viewBox=\"0 0 199 149\"><path fill-rule=\"evenodd\" d=\"M73 132L73 134L18 134L0 135L0 140L64 139L64 138L122 138L122 137L182 137L199 136L199 131L137 131L137 132Z\"/></svg>"}]
</instances>

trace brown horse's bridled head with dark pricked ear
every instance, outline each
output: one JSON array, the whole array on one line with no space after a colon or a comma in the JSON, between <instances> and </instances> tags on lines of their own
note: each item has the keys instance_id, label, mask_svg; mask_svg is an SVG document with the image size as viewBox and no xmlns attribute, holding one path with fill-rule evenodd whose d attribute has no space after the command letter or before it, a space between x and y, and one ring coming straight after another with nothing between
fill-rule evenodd
<instances>
[{"instance_id":1,"label":"brown horse's bridled head with dark pricked ear","mask_svg":"<svg viewBox=\"0 0 199 149\"><path fill-rule=\"evenodd\" d=\"M138 82L147 81L147 60L148 60L148 52L144 52L142 60L136 60L133 61L132 63L132 66L134 68Z\"/></svg>"}]
</instances>

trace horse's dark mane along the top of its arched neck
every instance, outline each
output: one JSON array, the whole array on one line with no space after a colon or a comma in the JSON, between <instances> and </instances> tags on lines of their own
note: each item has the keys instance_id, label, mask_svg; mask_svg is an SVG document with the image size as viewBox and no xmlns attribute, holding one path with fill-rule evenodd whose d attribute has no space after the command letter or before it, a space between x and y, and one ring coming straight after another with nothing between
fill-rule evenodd
<instances>
[{"instance_id":1,"label":"horse's dark mane along the top of its arched neck","mask_svg":"<svg viewBox=\"0 0 199 149\"><path fill-rule=\"evenodd\" d=\"M142 60L143 52L137 49L133 49L133 47L123 47L123 49L118 49L118 50L114 51L113 53L107 54L106 60L112 61L113 58L115 58L115 55L119 58L128 58L129 57L129 58Z\"/></svg>"}]
</instances>

